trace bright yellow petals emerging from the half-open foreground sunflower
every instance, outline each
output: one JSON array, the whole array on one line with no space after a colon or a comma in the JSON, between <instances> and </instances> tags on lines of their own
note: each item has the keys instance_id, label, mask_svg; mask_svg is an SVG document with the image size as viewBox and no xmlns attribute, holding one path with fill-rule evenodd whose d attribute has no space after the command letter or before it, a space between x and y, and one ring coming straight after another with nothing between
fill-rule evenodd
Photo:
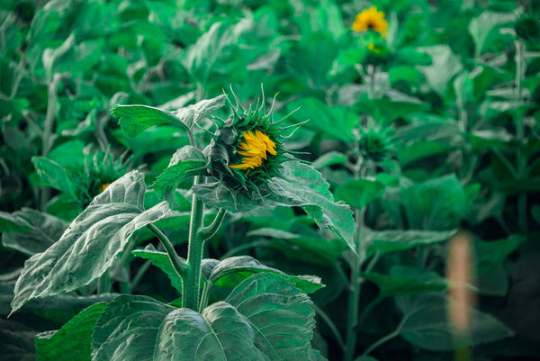
<instances>
[{"instance_id":1,"label":"bright yellow petals emerging from the half-open foreground sunflower","mask_svg":"<svg viewBox=\"0 0 540 361\"><path fill-rule=\"evenodd\" d=\"M242 131L244 141L238 145L238 154L242 155L240 164L231 164L233 169L255 169L263 165L263 159L267 158L269 153L273 156L275 151L275 142L262 131Z\"/></svg>"}]
</instances>

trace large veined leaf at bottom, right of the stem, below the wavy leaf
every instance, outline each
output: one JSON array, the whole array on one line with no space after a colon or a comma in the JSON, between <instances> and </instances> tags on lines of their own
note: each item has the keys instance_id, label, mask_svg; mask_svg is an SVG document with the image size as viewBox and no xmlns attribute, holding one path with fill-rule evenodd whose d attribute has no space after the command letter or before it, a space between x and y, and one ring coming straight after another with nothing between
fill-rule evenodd
<instances>
[{"instance_id":1,"label":"large veined leaf at bottom, right of the stem, below the wavy leaf","mask_svg":"<svg viewBox=\"0 0 540 361\"><path fill-rule=\"evenodd\" d=\"M315 312L310 298L280 275L247 278L225 302L235 306L255 331L255 345L270 360L305 360Z\"/></svg>"}]
</instances>

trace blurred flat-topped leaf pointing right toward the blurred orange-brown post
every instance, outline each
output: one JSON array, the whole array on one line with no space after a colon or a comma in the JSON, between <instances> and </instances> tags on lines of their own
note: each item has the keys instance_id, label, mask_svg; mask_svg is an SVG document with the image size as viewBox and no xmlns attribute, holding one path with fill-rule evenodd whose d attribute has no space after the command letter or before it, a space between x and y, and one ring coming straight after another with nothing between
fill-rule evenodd
<instances>
[{"instance_id":1,"label":"blurred flat-topped leaf pointing right toward the blurred orange-brown post","mask_svg":"<svg viewBox=\"0 0 540 361\"><path fill-rule=\"evenodd\" d=\"M420 245L442 242L455 235L456 230L366 230L366 256L384 255Z\"/></svg>"}]
</instances>

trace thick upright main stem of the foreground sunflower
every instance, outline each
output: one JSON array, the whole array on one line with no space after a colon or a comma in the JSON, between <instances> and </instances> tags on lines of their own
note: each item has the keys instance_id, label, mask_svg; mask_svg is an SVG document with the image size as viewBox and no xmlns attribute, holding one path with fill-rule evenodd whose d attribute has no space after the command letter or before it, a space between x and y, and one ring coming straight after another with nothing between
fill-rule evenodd
<instances>
[{"instance_id":1,"label":"thick upright main stem of the foreground sunflower","mask_svg":"<svg viewBox=\"0 0 540 361\"><path fill-rule=\"evenodd\" d=\"M193 185L200 182L199 176L195 176ZM204 239L200 230L204 214L204 203L197 194L193 193L191 221L189 225L189 239L187 249L187 277L184 282L182 302L185 308L197 311L201 291L201 263Z\"/></svg>"}]
</instances>

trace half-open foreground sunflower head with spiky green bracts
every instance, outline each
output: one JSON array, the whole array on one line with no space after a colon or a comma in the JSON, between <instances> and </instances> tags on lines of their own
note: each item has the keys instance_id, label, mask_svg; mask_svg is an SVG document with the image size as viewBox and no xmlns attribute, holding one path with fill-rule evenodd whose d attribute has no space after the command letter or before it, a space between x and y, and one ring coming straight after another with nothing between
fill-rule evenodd
<instances>
[{"instance_id":1,"label":"half-open foreground sunflower head with spiky green bracts","mask_svg":"<svg viewBox=\"0 0 540 361\"><path fill-rule=\"evenodd\" d=\"M238 106L205 150L211 176L231 191L260 194L268 179L279 176L281 163L289 158L282 131L264 104L247 110Z\"/></svg>"}]
</instances>

